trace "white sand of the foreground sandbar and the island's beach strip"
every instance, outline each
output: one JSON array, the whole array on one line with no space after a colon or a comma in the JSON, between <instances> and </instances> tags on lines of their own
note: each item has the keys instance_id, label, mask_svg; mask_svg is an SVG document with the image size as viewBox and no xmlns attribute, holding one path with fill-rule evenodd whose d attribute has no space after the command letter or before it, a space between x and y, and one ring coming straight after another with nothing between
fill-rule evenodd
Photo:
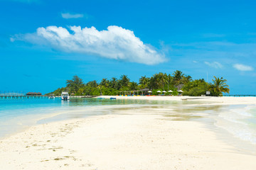
<instances>
[{"instance_id":1,"label":"white sand of the foreground sandbar and the island's beach strip","mask_svg":"<svg viewBox=\"0 0 256 170\"><path fill-rule=\"evenodd\" d=\"M216 106L256 103L253 97L114 97ZM117 109L32 126L0 140L1 169L255 169L255 152L222 140L225 133L202 121L163 116L160 109Z\"/></svg>"}]
</instances>

